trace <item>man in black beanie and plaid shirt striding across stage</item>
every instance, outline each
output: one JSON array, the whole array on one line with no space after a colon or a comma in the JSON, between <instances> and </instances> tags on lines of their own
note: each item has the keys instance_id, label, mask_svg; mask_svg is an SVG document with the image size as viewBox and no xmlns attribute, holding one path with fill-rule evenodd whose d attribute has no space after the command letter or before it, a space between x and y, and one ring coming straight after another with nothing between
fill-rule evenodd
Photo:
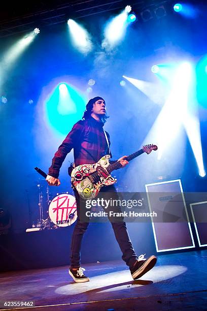
<instances>
[{"instance_id":1,"label":"man in black beanie and plaid shirt striding across stage","mask_svg":"<svg viewBox=\"0 0 207 311\"><path fill-rule=\"evenodd\" d=\"M72 148L74 149L74 162L75 167L83 164L95 164L104 155L110 154L110 137L107 132L103 130L103 125L106 122L108 116L106 115L106 103L101 97L95 97L89 100L86 105L86 110L83 115L83 120L78 121L71 132L66 136L62 144L56 151L54 158L52 159L52 165L49 168L47 175L47 182L49 185L58 186L60 180L58 179L60 167ZM120 158L119 167L125 167L128 164L126 160L127 156ZM72 241L71 241L71 265L69 269L70 275L77 283L88 282L83 268L81 268L80 251L83 235L89 225L88 221L81 221L81 208L83 206L83 199L79 195L78 191L74 189L76 202L77 202L77 222L74 228ZM101 193L112 194L113 199L118 199L114 184L103 185L100 189ZM121 212L119 206L111 207L115 212ZM109 217L112 224L115 237L119 243L121 252L123 254L122 259L129 267L132 278L137 279L148 272L156 264L156 257L150 256L148 259L144 258L144 255L136 256L133 246L131 244L126 224L123 217L119 217L118 221L114 222Z\"/></svg>"}]
</instances>

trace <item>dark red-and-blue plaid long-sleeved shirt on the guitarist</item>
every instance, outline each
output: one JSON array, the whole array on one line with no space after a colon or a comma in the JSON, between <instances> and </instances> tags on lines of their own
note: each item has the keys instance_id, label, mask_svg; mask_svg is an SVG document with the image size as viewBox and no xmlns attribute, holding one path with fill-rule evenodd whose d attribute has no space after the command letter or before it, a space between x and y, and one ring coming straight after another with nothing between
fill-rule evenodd
<instances>
[{"instance_id":1,"label":"dark red-and-blue plaid long-sleeved shirt on the guitarist","mask_svg":"<svg viewBox=\"0 0 207 311\"><path fill-rule=\"evenodd\" d=\"M110 145L109 133L106 132L106 134ZM72 149L74 149L76 166L94 164L103 155L109 154L108 143L103 131L103 123L96 121L93 117L78 121L55 152L48 175L58 178L60 167L67 153ZM112 157L111 153L110 155Z\"/></svg>"}]
</instances>

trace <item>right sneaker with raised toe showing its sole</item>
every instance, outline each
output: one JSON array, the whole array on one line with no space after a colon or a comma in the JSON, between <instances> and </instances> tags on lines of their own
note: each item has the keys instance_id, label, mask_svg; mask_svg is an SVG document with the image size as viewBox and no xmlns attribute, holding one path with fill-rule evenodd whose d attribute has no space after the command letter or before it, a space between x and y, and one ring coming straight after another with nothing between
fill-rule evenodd
<instances>
[{"instance_id":1,"label":"right sneaker with raised toe showing its sole","mask_svg":"<svg viewBox=\"0 0 207 311\"><path fill-rule=\"evenodd\" d=\"M149 270L151 270L156 264L157 257L153 255L146 259L145 255L140 255L135 264L130 268L131 276L133 279L140 278Z\"/></svg>"}]
</instances>

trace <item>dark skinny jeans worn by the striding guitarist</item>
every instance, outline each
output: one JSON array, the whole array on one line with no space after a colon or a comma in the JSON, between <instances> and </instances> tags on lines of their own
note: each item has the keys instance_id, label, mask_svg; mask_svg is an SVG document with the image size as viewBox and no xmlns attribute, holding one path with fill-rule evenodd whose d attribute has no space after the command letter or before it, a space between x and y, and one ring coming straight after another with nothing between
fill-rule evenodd
<instances>
[{"instance_id":1,"label":"dark skinny jeans worn by the striding guitarist","mask_svg":"<svg viewBox=\"0 0 207 311\"><path fill-rule=\"evenodd\" d=\"M111 185L111 186L103 186L101 188L101 193L105 192L105 193L110 193L110 195L112 195L113 199L117 199L118 198L118 194L116 192L115 186ZM82 243L82 238L83 235L86 231L86 229L88 228L89 225L89 218L87 222L81 222L80 220L80 209L83 208L83 201L81 204L81 198L78 195L78 193L75 193L76 195L76 202L77 202L77 214L78 214L78 218L77 218L77 222L73 231L73 236L72 236L72 241L71 241L71 267L80 267L81 266L81 243ZM80 208L81 207L81 208ZM111 207L112 208L112 207ZM120 206L116 206L116 208L112 208L114 211L116 212L121 212L121 208ZM83 211L83 210L82 210ZM118 222L113 222L113 219L110 219L109 217L109 221L112 224L113 230L114 230L114 234L116 237L117 242L119 243L121 252L122 252L122 259L125 261L127 266L132 266L135 261L138 259L133 246L131 244L127 229L126 229L126 224L123 221L123 217L119 217Z\"/></svg>"}]
</instances>

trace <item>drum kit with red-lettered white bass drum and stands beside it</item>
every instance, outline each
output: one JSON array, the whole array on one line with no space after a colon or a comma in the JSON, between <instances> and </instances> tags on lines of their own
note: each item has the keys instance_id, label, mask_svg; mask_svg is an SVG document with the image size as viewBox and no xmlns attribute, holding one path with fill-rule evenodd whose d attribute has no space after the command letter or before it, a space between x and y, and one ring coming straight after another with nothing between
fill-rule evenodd
<instances>
[{"instance_id":1,"label":"drum kit with red-lettered white bass drum and stands beside it","mask_svg":"<svg viewBox=\"0 0 207 311\"><path fill-rule=\"evenodd\" d=\"M44 229L58 229L73 225L77 220L76 198L68 192L51 195L46 180L39 180L38 184L38 213L37 222L26 231L39 231Z\"/></svg>"}]
</instances>

